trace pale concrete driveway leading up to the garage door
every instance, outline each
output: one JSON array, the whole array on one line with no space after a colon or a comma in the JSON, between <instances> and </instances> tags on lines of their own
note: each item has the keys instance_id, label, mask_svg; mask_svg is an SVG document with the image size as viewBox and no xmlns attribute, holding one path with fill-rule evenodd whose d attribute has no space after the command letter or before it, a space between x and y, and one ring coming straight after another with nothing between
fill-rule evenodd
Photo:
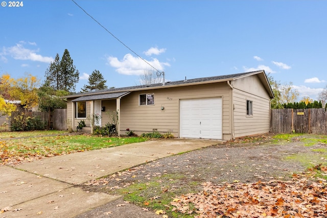
<instances>
[{"instance_id":1,"label":"pale concrete driveway leading up to the garage door","mask_svg":"<svg viewBox=\"0 0 327 218\"><path fill-rule=\"evenodd\" d=\"M160 139L0 166L1 217L74 217L121 196L74 187L89 180L219 140Z\"/></svg>"}]
</instances>

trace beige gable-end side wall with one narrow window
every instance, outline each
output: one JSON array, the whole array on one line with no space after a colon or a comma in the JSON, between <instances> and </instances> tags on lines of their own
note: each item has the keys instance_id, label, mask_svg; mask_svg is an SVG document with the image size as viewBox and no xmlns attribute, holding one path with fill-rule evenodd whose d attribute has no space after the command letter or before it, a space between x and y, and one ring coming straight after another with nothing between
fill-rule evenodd
<instances>
[{"instance_id":1,"label":"beige gable-end side wall with one narrow window","mask_svg":"<svg viewBox=\"0 0 327 218\"><path fill-rule=\"evenodd\" d=\"M258 76L232 81L235 137L269 132L269 95ZM246 101L252 101L253 115L246 114Z\"/></svg>"}]
</instances>

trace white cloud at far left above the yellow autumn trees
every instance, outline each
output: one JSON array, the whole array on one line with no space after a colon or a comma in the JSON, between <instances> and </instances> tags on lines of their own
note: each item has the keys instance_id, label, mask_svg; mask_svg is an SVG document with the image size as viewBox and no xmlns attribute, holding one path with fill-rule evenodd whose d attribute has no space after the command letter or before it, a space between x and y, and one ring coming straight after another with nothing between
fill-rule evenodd
<instances>
[{"instance_id":1,"label":"white cloud at far left above the yellow autumn trees","mask_svg":"<svg viewBox=\"0 0 327 218\"><path fill-rule=\"evenodd\" d=\"M3 52L0 54L2 56L2 59L4 59L3 56L10 55L16 60L31 60L45 63L50 63L54 60L52 57L43 57L41 55L36 54L36 52L38 51L26 49L23 45L24 43L24 41L20 41L15 46L4 47ZM32 42L33 45L34 43L35 42Z\"/></svg>"}]
</instances>

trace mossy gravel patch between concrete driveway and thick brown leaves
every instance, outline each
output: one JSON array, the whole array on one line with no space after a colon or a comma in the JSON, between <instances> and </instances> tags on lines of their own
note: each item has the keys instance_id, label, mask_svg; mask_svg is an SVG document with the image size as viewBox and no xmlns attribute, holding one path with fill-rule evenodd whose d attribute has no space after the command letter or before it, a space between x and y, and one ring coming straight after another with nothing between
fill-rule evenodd
<instances>
[{"instance_id":1,"label":"mossy gravel patch between concrete driveway and thick brown leaves","mask_svg":"<svg viewBox=\"0 0 327 218\"><path fill-rule=\"evenodd\" d=\"M306 137L306 136L301 136ZM287 140L272 140L270 137L255 138L243 143L222 143L181 155L162 158L154 162L135 166L100 180L93 180L81 185L88 191L104 191L110 194L127 193L140 190L136 197L145 202L155 202L160 196L170 193L172 197L201 191L201 184L254 183L258 181L290 180L294 172L303 172L306 166L300 161L287 160L286 157L298 154L314 154L313 149L327 148L324 143L311 147L304 146L299 137ZM316 161L316 160L315 160ZM325 162L321 159L321 162ZM313 162L313 164L319 161ZM146 187L137 187L145 184ZM133 189L129 189L132 187ZM141 190L142 189L142 190ZM119 200L119 201L122 201ZM143 204L132 209L118 207L119 201L102 208L81 214L78 217L161 217L154 212L142 216L133 216L136 211L147 210ZM162 200L164 201L164 200ZM160 202L162 203L162 202ZM126 202L128 205L129 203ZM125 208L124 208L125 207ZM143 209L142 209L143 208ZM101 211L112 211L110 214Z\"/></svg>"}]
</instances>

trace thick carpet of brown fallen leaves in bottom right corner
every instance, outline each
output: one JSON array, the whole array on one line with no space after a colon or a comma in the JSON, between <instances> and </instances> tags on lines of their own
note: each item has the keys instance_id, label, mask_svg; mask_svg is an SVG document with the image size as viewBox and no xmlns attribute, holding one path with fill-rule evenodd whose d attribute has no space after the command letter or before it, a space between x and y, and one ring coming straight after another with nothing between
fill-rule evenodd
<instances>
[{"instance_id":1,"label":"thick carpet of brown fallen leaves in bottom right corner","mask_svg":"<svg viewBox=\"0 0 327 218\"><path fill-rule=\"evenodd\" d=\"M174 211L195 217L327 217L327 183L295 175L292 181L217 185L203 183L203 191L177 197Z\"/></svg>"}]
</instances>

